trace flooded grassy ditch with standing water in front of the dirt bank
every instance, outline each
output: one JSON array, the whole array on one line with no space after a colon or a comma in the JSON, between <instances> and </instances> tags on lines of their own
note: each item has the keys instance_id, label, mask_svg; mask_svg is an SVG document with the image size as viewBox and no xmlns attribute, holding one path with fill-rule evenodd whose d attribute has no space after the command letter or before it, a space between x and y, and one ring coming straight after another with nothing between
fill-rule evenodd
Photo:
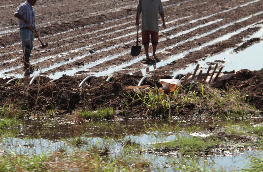
<instances>
[{"instance_id":1,"label":"flooded grassy ditch with standing water in front of the dirt bank","mask_svg":"<svg viewBox=\"0 0 263 172\"><path fill-rule=\"evenodd\" d=\"M178 123L143 119L80 125L63 123L63 120L60 124L51 121L24 121L23 127L27 128L25 131L19 128L12 129L11 132L10 129L2 129L0 145L2 151L21 156L52 154L61 150L74 152L104 148L107 156L113 159L120 156L145 159L151 163L150 171L175 171L181 162L191 163L194 155L188 157L179 151L154 153L151 146L179 138L191 138L191 132L202 131L209 126L209 123L193 124L190 120ZM20 130L20 134L15 130ZM12 136L13 134L16 136ZM233 171L245 168L249 157L258 156L258 151L253 148L234 148L232 151L223 148L219 154L196 157L196 163L208 170Z\"/></svg>"}]
</instances>

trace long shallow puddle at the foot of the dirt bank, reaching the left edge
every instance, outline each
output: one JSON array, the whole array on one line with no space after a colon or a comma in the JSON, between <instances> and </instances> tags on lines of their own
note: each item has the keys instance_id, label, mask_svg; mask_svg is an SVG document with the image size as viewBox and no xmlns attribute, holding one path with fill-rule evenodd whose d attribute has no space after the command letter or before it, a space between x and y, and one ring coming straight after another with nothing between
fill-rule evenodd
<instances>
[{"instance_id":1,"label":"long shallow puddle at the foot of the dirt bank, reaching the left edge","mask_svg":"<svg viewBox=\"0 0 263 172\"><path fill-rule=\"evenodd\" d=\"M29 127L27 132L23 133L24 136L19 135L16 138L1 138L0 146L13 152L28 152L30 154L49 153L58 150L59 148L70 146L68 142L80 135L84 140L90 143L105 142L103 139L121 139L125 140L132 138L142 146L147 146L152 142L171 141L177 138L180 133L174 133L178 123L169 121L157 120L130 120L130 121L117 121L117 122L90 122L83 125L74 126L73 124L57 125L52 123L40 122L25 122L24 126ZM191 124L189 124L191 125ZM43 126L43 127L42 127ZM168 126L170 128L168 128ZM170 132L149 131L149 128L166 128ZM72 130L74 128L74 130ZM59 131L59 132L58 132ZM0 130L1 132L1 130ZM39 135L39 139L29 139L34 135ZM28 137L29 136L29 137ZM25 139L23 139L25 137ZM62 139L64 138L64 139ZM120 151L121 142L114 141L114 153ZM73 150L71 150L73 151Z\"/></svg>"}]
</instances>

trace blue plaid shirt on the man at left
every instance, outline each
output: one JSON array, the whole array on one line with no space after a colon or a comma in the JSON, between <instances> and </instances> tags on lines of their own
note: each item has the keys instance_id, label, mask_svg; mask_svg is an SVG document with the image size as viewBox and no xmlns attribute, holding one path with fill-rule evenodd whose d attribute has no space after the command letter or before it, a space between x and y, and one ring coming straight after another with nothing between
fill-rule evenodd
<instances>
[{"instance_id":1,"label":"blue plaid shirt on the man at left","mask_svg":"<svg viewBox=\"0 0 263 172\"><path fill-rule=\"evenodd\" d=\"M32 29L37 30L35 23L35 11L28 1L19 5L16 13L20 14L24 19L28 20L29 25L32 27ZM22 27L28 27L28 25L23 20L19 19L19 28Z\"/></svg>"}]
</instances>

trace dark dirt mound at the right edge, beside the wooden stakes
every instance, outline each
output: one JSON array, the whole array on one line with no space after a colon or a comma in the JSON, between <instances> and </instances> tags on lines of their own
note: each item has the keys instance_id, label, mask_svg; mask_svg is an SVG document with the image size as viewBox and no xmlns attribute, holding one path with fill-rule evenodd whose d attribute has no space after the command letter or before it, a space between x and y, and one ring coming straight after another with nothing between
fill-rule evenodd
<instances>
[{"instance_id":1,"label":"dark dirt mound at the right edge, beside the wooden stakes","mask_svg":"<svg viewBox=\"0 0 263 172\"><path fill-rule=\"evenodd\" d=\"M255 104L256 108L263 109L263 69L259 71L241 70L229 84L232 88L247 94L249 102Z\"/></svg>"}]
</instances>

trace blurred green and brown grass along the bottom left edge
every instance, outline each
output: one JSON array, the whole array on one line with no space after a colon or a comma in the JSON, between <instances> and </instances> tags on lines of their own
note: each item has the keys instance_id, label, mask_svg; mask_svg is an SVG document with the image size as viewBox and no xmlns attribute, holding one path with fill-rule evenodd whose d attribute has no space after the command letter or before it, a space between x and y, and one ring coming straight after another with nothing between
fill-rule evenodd
<instances>
[{"instance_id":1,"label":"blurred green and brown grass along the bottom left edge","mask_svg":"<svg viewBox=\"0 0 263 172\"><path fill-rule=\"evenodd\" d=\"M142 164L142 165L140 165ZM94 151L83 152L54 152L50 155L21 155L21 154L5 154L0 156L1 172L15 171L124 171L134 172L147 170L144 161L136 160L136 165L131 167L127 161L120 161L119 157L101 158Z\"/></svg>"}]
</instances>

